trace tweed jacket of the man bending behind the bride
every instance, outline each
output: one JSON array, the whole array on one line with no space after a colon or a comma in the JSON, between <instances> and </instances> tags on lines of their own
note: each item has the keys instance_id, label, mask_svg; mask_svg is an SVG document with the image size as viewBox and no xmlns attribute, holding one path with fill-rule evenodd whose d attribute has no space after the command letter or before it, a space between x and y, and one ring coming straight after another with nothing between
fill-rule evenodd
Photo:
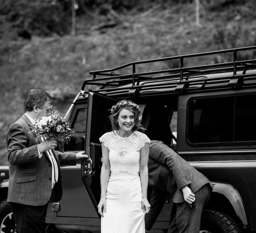
<instances>
[{"instance_id":1,"label":"tweed jacket of the man bending behind the bride","mask_svg":"<svg viewBox=\"0 0 256 233\"><path fill-rule=\"evenodd\" d=\"M150 186L174 194L173 202L184 201L181 187L188 185L196 192L211 182L162 141L149 143L148 183Z\"/></svg>"}]
</instances>

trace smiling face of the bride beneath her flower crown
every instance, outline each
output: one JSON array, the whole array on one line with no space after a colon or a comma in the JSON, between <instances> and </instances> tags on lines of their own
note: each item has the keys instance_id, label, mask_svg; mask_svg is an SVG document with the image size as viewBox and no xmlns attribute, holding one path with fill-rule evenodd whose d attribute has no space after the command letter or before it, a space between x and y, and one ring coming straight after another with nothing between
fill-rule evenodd
<instances>
[{"instance_id":1,"label":"smiling face of the bride beneath her flower crown","mask_svg":"<svg viewBox=\"0 0 256 233\"><path fill-rule=\"evenodd\" d=\"M132 131L134 126L134 113L123 108L118 115L119 130Z\"/></svg>"}]
</instances>

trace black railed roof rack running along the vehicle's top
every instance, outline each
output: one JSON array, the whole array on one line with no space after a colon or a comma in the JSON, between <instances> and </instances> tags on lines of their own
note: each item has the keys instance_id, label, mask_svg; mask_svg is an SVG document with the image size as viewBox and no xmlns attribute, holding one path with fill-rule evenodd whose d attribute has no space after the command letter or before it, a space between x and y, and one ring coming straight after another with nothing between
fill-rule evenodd
<instances>
[{"instance_id":1,"label":"black railed roof rack running along the vehicle's top","mask_svg":"<svg viewBox=\"0 0 256 233\"><path fill-rule=\"evenodd\" d=\"M205 79L205 82L210 79L205 76L205 74L214 74L214 73L224 73L224 72L232 72L233 75L230 78L228 85L230 87L238 86L241 83L241 79L245 77L251 77L251 74L246 74L246 70L256 68L256 59L250 60L237 60L237 53L239 51L246 50L254 50L253 56L256 54L256 46L243 47L243 48L234 48L234 49L226 49L212 52L204 52L204 53L196 53L196 54L187 54L173 57L165 57L158 59L150 59L143 61L135 61L130 62L112 69L105 70L96 70L90 71L89 73L93 76L92 79L87 79L84 81L81 90L84 90L86 85L96 85L100 86L99 89L104 89L105 91L115 90L117 87L120 88L120 85L130 85L130 89L140 89L145 83L147 83L147 87L155 86L151 85L150 82L153 81L169 81L172 84L176 84L176 91L182 91L184 87L188 84L202 82L202 79ZM185 58L194 58L194 57L202 57L207 55L217 55L217 54L228 54L232 55L233 59L231 62L223 62L216 64L206 64L206 65L196 65L196 66L184 66ZM231 55L230 55L231 54ZM171 60L178 60L179 67L173 69L165 69L165 70L156 70L156 71L147 71L147 72L136 72L137 67L141 64L147 63L156 63L156 62L166 62ZM122 73L123 69L131 69L131 72ZM243 71L243 74L237 74L238 71ZM116 73L120 72L120 73ZM127 72L127 71L126 71ZM166 74L167 73L167 74ZM255 76L255 74L254 74ZM193 79L188 79L188 77L193 77ZM207 81L206 81L207 79ZM147 82L142 83L142 81L147 80ZM150 81L151 80L151 81ZM215 79L216 81L216 79ZM218 80L217 80L218 81ZM111 87L106 89L106 87ZM125 89L125 87L123 88ZM127 87L126 87L127 89Z\"/></svg>"}]
</instances>

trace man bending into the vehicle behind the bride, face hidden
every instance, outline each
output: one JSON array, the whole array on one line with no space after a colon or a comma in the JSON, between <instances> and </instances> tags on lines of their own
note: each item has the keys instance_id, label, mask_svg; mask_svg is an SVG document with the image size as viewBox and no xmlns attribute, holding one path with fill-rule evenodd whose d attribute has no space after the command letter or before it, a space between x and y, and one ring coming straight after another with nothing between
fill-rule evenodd
<instances>
[{"instance_id":1,"label":"man bending into the vehicle behind the bride, face hidden","mask_svg":"<svg viewBox=\"0 0 256 233\"><path fill-rule=\"evenodd\" d=\"M161 141L149 144L148 172L152 193L150 211L145 216L146 230L151 229L161 212L168 191L177 207L168 233L198 233L211 182Z\"/></svg>"}]
</instances>

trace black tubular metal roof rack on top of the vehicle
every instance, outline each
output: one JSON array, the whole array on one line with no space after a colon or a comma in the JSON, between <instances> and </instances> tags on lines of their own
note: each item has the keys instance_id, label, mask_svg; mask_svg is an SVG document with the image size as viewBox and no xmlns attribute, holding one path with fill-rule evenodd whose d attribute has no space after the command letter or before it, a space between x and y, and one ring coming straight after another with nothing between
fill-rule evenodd
<instances>
[{"instance_id":1,"label":"black tubular metal roof rack on top of the vehicle","mask_svg":"<svg viewBox=\"0 0 256 233\"><path fill-rule=\"evenodd\" d=\"M174 87L176 92L203 88L206 83L211 82L211 84L226 82L228 87L238 87L243 84L243 80L255 79L255 73L246 73L250 69L256 69L256 59L248 60L237 60L238 52L253 50L253 58L256 55L256 46L234 48L227 50L219 50L212 52L187 54L173 57L165 57L158 59L150 59L143 61L130 62L112 69L96 70L90 71L89 73L93 76L91 79L84 81L81 90L83 91L86 85L95 85L99 92L111 92L115 90L125 90L129 86L131 93L138 91L139 94L143 94L141 91L149 90L152 87L158 87L159 89L165 90L167 87ZM185 66L184 59L203 57L208 55L218 55L227 54L227 56L232 55L232 61L216 63L216 64L206 64L206 65L196 65L196 66ZM143 64L157 62L168 62L168 61L178 61L179 67L173 69L165 70L153 70L147 72L137 72L137 68L140 68ZM128 72L127 72L128 70ZM129 71L130 70L130 71ZM227 77L210 77L211 74L222 74L228 73L229 80L227 82ZM123 87L120 87L122 86ZM254 83L255 85L255 83Z\"/></svg>"}]
</instances>

